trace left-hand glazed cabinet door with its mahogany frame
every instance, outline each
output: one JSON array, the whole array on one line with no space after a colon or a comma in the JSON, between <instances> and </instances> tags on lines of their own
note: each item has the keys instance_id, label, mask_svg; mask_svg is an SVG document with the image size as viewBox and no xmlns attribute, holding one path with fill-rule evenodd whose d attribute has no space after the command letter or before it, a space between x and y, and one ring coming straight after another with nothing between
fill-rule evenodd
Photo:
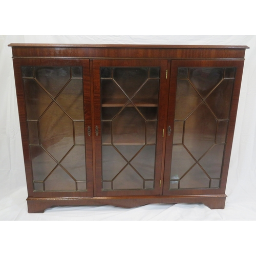
<instances>
[{"instance_id":1,"label":"left-hand glazed cabinet door with its mahogany frame","mask_svg":"<svg viewBox=\"0 0 256 256\"><path fill-rule=\"evenodd\" d=\"M14 60L29 195L92 196L89 60Z\"/></svg>"}]
</instances>

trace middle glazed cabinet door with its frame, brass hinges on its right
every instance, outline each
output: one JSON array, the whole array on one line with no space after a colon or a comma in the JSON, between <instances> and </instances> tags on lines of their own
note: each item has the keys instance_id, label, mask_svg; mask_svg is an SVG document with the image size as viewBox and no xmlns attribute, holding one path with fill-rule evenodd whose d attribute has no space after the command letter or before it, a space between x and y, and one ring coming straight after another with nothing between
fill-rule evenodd
<instances>
[{"instance_id":1,"label":"middle glazed cabinet door with its frame, brass hinges on its right","mask_svg":"<svg viewBox=\"0 0 256 256\"><path fill-rule=\"evenodd\" d=\"M160 193L167 61L94 60L96 196Z\"/></svg>"}]
</instances>

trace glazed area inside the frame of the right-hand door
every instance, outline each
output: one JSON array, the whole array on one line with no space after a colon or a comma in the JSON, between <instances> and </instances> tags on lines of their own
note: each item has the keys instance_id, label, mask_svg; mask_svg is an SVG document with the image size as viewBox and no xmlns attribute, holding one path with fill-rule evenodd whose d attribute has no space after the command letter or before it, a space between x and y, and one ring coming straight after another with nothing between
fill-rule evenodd
<instances>
[{"instance_id":1,"label":"glazed area inside the frame of the right-hand door","mask_svg":"<svg viewBox=\"0 0 256 256\"><path fill-rule=\"evenodd\" d=\"M219 187L235 73L178 69L169 189Z\"/></svg>"}]
</instances>

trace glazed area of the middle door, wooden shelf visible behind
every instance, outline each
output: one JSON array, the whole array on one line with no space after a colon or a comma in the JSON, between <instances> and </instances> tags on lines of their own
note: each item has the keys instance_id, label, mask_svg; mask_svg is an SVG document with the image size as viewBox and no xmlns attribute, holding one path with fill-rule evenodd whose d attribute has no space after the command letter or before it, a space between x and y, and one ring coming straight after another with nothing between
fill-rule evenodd
<instances>
[{"instance_id":1,"label":"glazed area of the middle door, wooden shelf visible behind","mask_svg":"<svg viewBox=\"0 0 256 256\"><path fill-rule=\"evenodd\" d=\"M159 75L101 68L103 190L154 189Z\"/></svg>"}]
</instances>

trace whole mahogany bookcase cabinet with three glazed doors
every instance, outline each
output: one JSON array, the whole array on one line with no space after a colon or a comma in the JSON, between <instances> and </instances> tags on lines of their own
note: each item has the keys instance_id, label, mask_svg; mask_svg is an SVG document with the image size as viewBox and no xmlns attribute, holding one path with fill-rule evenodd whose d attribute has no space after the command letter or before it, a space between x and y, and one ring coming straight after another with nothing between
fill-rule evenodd
<instances>
[{"instance_id":1,"label":"whole mahogany bookcase cabinet with three glazed doors","mask_svg":"<svg viewBox=\"0 0 256 256\"><path fill-rule=\"evenodd\" d=\"M10 46L29 212L224 208L248 47Z\"/></svg>"}]
</instances>

